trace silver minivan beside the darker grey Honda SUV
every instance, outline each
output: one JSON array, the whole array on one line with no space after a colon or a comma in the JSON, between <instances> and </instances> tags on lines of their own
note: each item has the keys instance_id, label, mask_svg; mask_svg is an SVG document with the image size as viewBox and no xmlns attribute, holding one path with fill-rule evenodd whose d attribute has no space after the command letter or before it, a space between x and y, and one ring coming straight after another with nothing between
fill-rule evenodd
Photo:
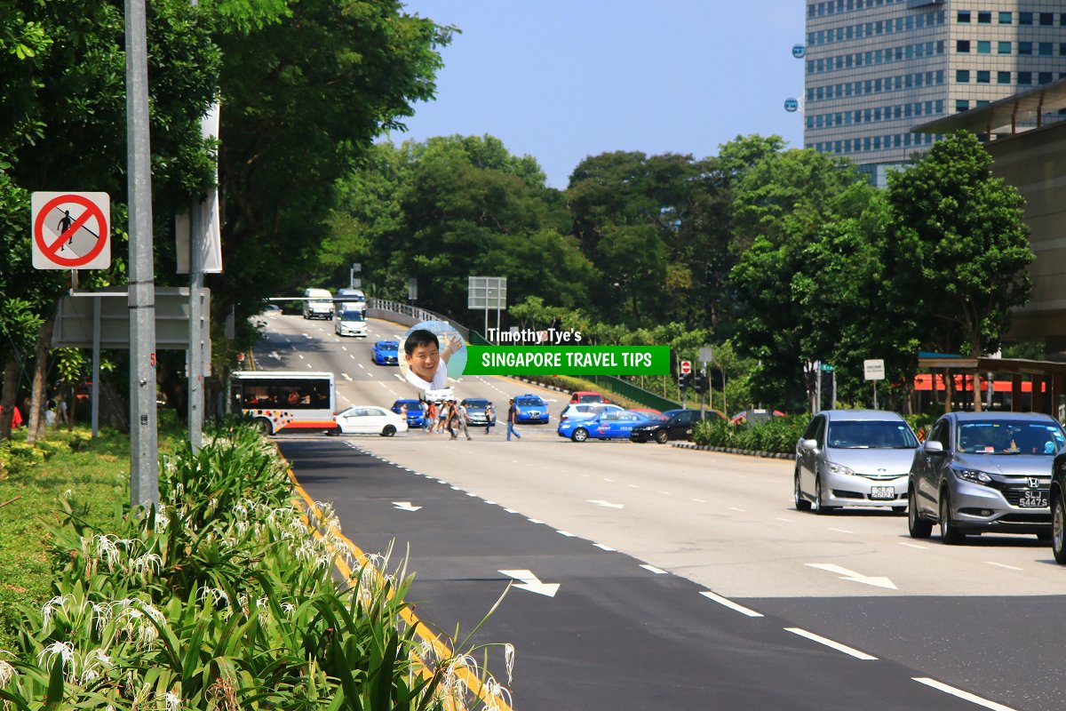
<instances>
[{"instance_id":1,"label":"silver minivan beside the darker grey Honda SUV","mask_svg":"<svg viewBox=\"0 0 1066 711\"><path fill-rule=\"evenodd\" d=\"M891 506L903 513L917 447L897 413L819 413L796 442L796 508L827 514L840 506Z\"/></svg>"}]
</instances>

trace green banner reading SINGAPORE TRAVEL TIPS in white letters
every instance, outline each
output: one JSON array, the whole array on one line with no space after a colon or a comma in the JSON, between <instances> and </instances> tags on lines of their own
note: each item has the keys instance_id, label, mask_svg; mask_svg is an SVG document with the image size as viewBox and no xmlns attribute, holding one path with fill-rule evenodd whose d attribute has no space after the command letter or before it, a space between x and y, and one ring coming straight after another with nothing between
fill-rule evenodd
<instances>
[{"instance_id":1,"label":"green banner reading SINGAPORE TRAVEL TIPS in white letters","mask_svg":"<svg viewBox=\"0 0 1066 711\"><path fill-rule=\"evenodd\" d=\"M468 345L464 375L669 375L668 345Z\"/></svg>"}]
</instances>

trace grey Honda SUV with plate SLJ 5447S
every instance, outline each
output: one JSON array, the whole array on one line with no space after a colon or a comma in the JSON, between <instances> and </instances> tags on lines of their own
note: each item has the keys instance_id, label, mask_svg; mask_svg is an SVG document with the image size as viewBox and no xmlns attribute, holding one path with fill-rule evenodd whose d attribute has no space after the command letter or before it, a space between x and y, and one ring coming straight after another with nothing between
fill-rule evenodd
<instances>
[{"instance_id":1,"label":"grey Honda SUV with plate SLJ 5447S","mask_svg":"<svg viewBox=\"0 0 1066 711\"><path fill-rule=\"evenodd\" d=\"M1050 415L949 413L910 467L908 528L946 544L968 533L1035 533L1051 539L1051 465L1066 433Z\"/></svg>"}]
</instances>

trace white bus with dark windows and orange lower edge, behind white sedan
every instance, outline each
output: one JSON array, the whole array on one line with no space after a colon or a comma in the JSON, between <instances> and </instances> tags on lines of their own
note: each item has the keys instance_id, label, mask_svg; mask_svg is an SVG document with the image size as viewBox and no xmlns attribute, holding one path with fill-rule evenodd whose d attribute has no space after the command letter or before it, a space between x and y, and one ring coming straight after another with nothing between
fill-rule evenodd
<instances>
[{"instance_id":1,"label":"white bus with dark windows and orange lower edge, behind white sedan","mask_svg":"<svg viewBox=\"0 0 1066 711\"><path fill-rule=\"evenodd\" d=\"M333 373L239 370L230 375L233 409L268 435L337 431Z\"/></svg>"}]
</instances>

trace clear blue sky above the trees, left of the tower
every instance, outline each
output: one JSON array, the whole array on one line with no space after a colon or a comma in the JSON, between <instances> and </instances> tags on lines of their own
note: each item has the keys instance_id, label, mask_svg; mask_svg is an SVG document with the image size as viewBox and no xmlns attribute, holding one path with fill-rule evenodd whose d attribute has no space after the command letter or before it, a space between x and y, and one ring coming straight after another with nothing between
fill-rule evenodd
<instances>
[{"instance_id":1,"label":"clear blue sky above the trees, left of the tower","mask_svg":"<svg viewBox=\"0 0 1066 711\"><path fill-rule=\"evenodd\" d=\"M410 0L407 12L462 30L442 51L435 101L406 133L501 139L566 188L611 150L714 156L738 134L801 147L800 0Z\"/></svg>"}]
</instances>

